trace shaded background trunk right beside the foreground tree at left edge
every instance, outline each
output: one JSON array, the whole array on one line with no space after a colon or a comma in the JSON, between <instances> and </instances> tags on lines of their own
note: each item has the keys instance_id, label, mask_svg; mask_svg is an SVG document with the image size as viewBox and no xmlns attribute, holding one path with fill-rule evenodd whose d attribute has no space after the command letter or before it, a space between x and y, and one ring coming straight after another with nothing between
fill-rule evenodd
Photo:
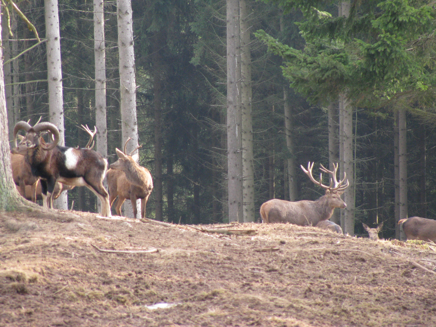
<instances>
[{"instance_id":1,"label":"shaded background trunk right beside the foreground tree at left edge","mask_svg":"<svg viewBox=\"0 0 436 327\"><path fill-rule=\"evenodd\" d=\"M4 10L4 8L3 8ZM3 14L3 13L2 13ZM3 18L5 16L3 15ZM3 62L6 62L10 59L10 43L9 43L9 31L7 27L7 20L3 19L1 22L2 26L2 40L3 40ZM9 130L9 140L12 140L14 137L14 111L13 111L13 100L12 100L12 76L11 76L11 65L8 62L6 65L3 65L4 69L4 84L5 85L5 100L6 100L6 112L7 112L7 121L8 121L8 130Z\"/></svg>"}]
</instances>

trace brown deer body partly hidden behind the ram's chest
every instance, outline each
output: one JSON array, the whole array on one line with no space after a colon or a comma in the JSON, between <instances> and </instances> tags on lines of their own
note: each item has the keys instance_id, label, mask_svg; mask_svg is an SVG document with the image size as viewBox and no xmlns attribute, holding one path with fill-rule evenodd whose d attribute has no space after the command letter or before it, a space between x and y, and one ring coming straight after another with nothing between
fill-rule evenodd
<instances>
[{"instance_id":1,"label":"brown deer body partly hidden behind the ram's chest","mask_svg":"<svg viewBox=\"0 0 436 327\"><path fill-rule=\"evenodd\" d=\"M33 176L26 158L21 154L10 154L10 161L12 164L12 177L17 189L21 195L26 193L26 188L29 188L29 198L32 202L36 202L36 183L39 178Z\"/></svg>"}]
</instances>

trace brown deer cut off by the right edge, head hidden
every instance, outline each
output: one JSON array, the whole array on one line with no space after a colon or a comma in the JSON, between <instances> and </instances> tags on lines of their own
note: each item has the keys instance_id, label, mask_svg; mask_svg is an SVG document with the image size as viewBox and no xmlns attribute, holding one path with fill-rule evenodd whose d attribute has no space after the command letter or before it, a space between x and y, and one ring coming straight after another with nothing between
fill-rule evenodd
<instances>
[{"instance_id":1,"label":"brown deer cut off by the right edge, head hidden","mask_svg":"<svg viewBox=\"0 0 436 327\"><path fill-rule=\"evenodd\" d=\"M418 239L436 243L436 220L410 217L401 219L398 224L403 224L403 230L407 239Z\"/></svg>"}]
</instances>

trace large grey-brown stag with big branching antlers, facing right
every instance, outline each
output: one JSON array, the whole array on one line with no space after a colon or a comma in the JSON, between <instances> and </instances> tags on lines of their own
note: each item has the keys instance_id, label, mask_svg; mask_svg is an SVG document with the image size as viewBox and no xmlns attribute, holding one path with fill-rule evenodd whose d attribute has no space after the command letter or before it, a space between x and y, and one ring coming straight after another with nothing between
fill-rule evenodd
<instances>
[{"instance_id":1,"label":"large grey-brown stag with big branching antlers, facing right","mask_svg":"<svg viewBox=\"0 0 436 327\"><path fill-rule=\"evenodd\" d=\"M321 170L331 175L330 186L322 184L322 174L320 175L320 181L316 181L312 176L313 163L307 165L307 170L301 166L301 169L309 176L310 180L325 189L325 195L320 197L316 201L284 201L279 199L272 199L266 201L260 207L260 216L262 221L267 224L282 222L289 222L291 224L300 226L315 226L318 222L330 219L333 214L334 208L345 208L347 204L341 199L343 190L348 187L348 181L344 185L346 175L344 173L344 179L337 181L336 172L338 165L333 165L334 170L330 171L321 165ZM332 186L334 181L334 186Z\"/></svg>"}]
</instances>

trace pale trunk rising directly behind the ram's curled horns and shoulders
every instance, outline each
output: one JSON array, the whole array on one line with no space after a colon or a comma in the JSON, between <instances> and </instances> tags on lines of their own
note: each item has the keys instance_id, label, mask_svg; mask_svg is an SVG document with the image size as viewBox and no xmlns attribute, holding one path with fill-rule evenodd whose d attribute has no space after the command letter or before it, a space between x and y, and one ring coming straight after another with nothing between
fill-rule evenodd
<instances>
[{"instance_id":1,"label":"pale trunk rising directly behind the ram's curled horns and shoulders","mask_svg":"<svg viewBox=\"0 0 436 327\"><path fill-rule=\"evenodd\" d=\"M61 36L58 0L44 0L45 38L47 39L48 112L50 122L59 129L59 145L65 144L64 100L62 95ZM54 202L58 209L68 209L67 192Z\"/></svg>"}]
</instances>

